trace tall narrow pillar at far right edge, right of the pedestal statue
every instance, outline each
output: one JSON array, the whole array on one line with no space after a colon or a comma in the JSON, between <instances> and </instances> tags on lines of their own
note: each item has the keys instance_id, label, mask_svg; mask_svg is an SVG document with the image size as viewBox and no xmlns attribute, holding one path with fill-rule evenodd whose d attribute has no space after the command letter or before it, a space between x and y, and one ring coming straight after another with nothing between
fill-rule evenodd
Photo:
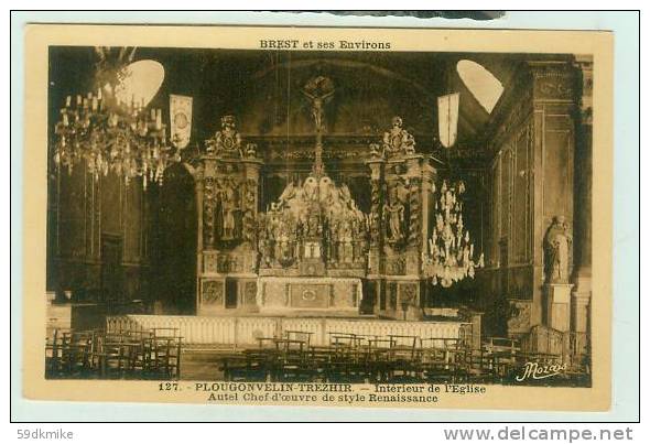
<instances>
[{"instance_id":1,"label":"tall narrow pillar at far right edge, right of the pedestal statue","mask_svg":"<svg viewBox=\"0 0 650 444\"><path fill-rule=\"evenodd\" d=\"M572 292L572 332L575 332L575 350L588 350L589 304L592 299L592 94L593 59L576 57L576 86L582 91L576 112L575 155L575 220L574 220L574 280Z\"/></svg>"}]
</instances>

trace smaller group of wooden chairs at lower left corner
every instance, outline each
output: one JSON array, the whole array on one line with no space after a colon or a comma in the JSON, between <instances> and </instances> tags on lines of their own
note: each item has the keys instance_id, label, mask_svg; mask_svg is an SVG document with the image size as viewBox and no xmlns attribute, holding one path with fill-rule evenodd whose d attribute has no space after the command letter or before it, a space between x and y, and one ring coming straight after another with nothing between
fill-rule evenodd
<instances>
[{"instance_id":1,"label":"smaller group of wooden chairs at lower left corner","mask_svg":"<svg viewBox=\"0 0 650 444\"><path fill-rule=\"evenodd\" d=\"M177 328L148 331L55 329L45 345L48 378L177 379Z\"/></svg>"}]
</instances>

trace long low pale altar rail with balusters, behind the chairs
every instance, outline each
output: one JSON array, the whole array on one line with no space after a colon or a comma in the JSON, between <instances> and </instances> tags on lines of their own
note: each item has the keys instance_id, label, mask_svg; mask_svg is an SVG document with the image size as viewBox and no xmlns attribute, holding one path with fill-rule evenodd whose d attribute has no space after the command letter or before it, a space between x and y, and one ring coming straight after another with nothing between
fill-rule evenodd
<instances>
[{"instance_id":1,"label":"long low pale altar rail with balusters, behind the chairs","mask_svg":"<svg viewBox=\"0 0 650 444\"><path fill-rule=\"evenodd\" d=\"M313 333L311 344L318 346L329 345L329 333L421 338L459 338L472 334L472 324L462 322L167 315L108 316L106 322L109 332L178 328L185 344L232 346L257 345L259 337L280 337L288 331Z\"/></svg>"}]
</instances>

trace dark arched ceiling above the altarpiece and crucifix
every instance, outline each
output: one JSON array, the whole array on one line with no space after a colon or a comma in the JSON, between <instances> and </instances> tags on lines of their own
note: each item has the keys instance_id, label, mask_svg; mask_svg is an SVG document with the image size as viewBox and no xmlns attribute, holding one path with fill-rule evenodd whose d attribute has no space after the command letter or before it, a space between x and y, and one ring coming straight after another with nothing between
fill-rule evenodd
<instances>
[{"instance_id":1,"label":"dark arched ceiling above the altarpiece and crucifix","mask_svg":"<svg viewBox=\"0 0 650 444\"><path fill-rule=\"evenodd\" d=\"M52 99L78 90L93 77L93 48L52 48ZM246 136L313 133L301 88L329 77L335 94L325 107L328 134L377 134L398 115L415 138L437 136L436 97L461 93L458 145L472 148L489 115L457 75L459 59L477 62L507 88L522 56L505 54L393 52L269 52L139 47L134 61L154 59L165 79L151 106L166 109L169 94L194 97L193 142L202 142L234 113ZM86 82L87 84L87 82ZM52 84L51 84L52 85ZM86 87L88 88L88 87ZM67 91L67 93L66 93ZM51 106L54 116L59 105ZM420 144L422 149L422 144Z\"/></svg>"}]
</instances>

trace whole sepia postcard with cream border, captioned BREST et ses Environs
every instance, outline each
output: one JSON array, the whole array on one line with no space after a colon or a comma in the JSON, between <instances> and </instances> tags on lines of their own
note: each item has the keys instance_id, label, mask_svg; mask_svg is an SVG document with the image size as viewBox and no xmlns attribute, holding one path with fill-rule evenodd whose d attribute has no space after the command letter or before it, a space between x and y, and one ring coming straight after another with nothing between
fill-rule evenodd
<instances>
[{"instance_id":1,"label":"whole sepia postcard with cream border, captioned BREST et ses Environs","mask_svg":"<svg viewBox=\"0 0 650 444\"><path fill-rule=\"evenodd\" d=\"M24 397L609 409L610 33L25 47Z\"/></svg>"}]
</instances>

